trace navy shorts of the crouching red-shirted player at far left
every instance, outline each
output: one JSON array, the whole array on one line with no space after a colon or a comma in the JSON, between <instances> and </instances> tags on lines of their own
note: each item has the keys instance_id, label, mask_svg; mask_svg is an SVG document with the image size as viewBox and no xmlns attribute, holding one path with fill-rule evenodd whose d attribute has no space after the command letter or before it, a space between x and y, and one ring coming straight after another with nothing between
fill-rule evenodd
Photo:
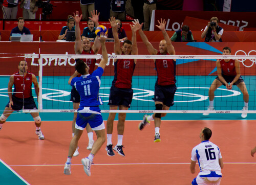
<instances>
[{"instance_id":1,"label":"navy shorts of the crouching red-shirted player at far left","mask_svg":"<svg viewBox=\"0 0 256 185\"><path fill-rule=\"evenodd\" d=\"M35 101L34 101L34 97L25 98L23 101L22 98L17 98L12 95L12 101L13 101L12 109L16 110L16 111L22 110L23 105L24 105L24 109L37 109ZM6 107L9 107L9 103L10 103L10 101L8 102Z\"/></svg>"}]
</instances>

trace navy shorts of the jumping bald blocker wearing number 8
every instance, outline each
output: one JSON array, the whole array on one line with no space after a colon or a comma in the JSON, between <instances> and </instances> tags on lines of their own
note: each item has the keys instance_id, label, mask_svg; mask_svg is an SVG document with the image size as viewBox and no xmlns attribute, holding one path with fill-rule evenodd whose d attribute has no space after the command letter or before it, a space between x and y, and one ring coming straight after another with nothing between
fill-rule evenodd
<instances>
[{"instance_id":1,"label":"navy shorts of the jumping bald blocker wearing number 8","mask_svg":"<svg viewBox=\"0 0 256 185\"><path fill-rule=\"evenodd\" d=\"M155 102L163 102L167 107L174 105L174 95L177 90L175 84L173 85L158 85L155 84Z\"/></svg>"}]
</instances>

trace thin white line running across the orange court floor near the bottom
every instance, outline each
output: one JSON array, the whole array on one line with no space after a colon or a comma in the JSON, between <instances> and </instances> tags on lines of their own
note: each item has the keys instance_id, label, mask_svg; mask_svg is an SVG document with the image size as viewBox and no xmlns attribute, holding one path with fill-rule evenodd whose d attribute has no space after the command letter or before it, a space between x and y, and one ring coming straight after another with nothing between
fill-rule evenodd
<instances>
[{"instance_id":1,"label":"thin white line running across the orange court floor near the bottom","mask_svg":"<svg viewBox=\"0 0 256 185\"><path fill-rule=\"evenodd\" d=\"M256 163L224 163L224 164L233 164L233 165L251 165ZM93 165L190 165L190 163L120 163L120 164L93 164ZM65 166L65 165L12 165L10 167L33 167L33 166ZM72 166L82 166L75 165Z\"/></svg>"}]
</instances>

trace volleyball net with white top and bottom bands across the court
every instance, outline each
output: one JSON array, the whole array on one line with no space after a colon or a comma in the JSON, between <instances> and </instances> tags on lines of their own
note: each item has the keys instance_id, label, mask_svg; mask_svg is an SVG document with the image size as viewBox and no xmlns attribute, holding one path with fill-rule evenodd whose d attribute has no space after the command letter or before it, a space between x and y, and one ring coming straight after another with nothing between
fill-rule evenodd
<instances>
[{"instance_id":1,"label":"volleyball net with white top and bottom bands across the court","mask_svg":"<svg viewBox=\"0 0 256 185\"><path fill-rule=\"evenodd\" d=\"M18 60L28 62L28 71L33 73L39 83L39 97L36 99L38 110L23 110L24 112L75 112L70 101L70 76L75 72L75 59L96 59L97 68L101 55L38 55L25 54ZM2 57L3 59L3 57ZM208 113L255 113L255 83L256 56L223 56L223 55L129 55L129 59L137 59L133 74L133 100L129 110L110 110L108 102L110 88L114 79L114 59L127 59L127 55L109 55L108 64L101 77L99 96L103 101L102 112L132 112L132 113L206 113L209 106L208 90L217 77L217 59L239 59L241 76L249 92L249 110L243 111L243 94L233 85L231 90L220 86L215 91L215 111ZM154 91L157 80L154 59L176 59L176 86L174 105L167 111L155 110ZM16 59L17 60L17 59ZM125 65L125 64L124 64ZM10 61L1 75L0 100L1 109L9 101L7 86L9 76L18 71L18 62Z\"/></svg>"}]
</instances>

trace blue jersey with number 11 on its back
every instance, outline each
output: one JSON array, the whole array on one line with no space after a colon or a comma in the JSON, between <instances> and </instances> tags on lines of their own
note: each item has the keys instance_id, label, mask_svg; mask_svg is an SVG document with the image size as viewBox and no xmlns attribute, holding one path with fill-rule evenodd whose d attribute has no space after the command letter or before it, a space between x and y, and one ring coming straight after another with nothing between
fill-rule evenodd
<instances>
[{"instance_id":1,"label":"blue jersey with number 11 on its back","mask_svg":"<svg viewBox=\"0 0 256 185\"><path fill-rule=\"evenodd\" d=\"M91 75L82 75L72 79L70 85L75 87L80 95L80 107L102 105L102 100L99 97L99 87L103 72L103 68L98 67Z\"/></svg>"}]
</instances>

